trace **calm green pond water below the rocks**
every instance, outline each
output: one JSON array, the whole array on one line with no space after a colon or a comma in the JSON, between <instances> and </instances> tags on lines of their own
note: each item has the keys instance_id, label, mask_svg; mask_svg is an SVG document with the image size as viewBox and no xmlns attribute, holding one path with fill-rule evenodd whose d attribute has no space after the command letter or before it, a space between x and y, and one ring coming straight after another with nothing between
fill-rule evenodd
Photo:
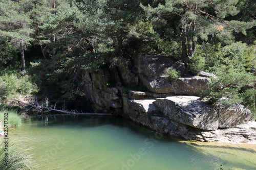
<instances>
[{"instance_id":1,"label":"calm green pond water below the rocks","mask_svg":"<svg viewBox=\"0 0 256 170\"><path fill-rule=\"evenodd\" d=\"M57 117L12 129L38 169L256 169L255 145L186 142L112 117Z\"/></svg>"}]
</instances>

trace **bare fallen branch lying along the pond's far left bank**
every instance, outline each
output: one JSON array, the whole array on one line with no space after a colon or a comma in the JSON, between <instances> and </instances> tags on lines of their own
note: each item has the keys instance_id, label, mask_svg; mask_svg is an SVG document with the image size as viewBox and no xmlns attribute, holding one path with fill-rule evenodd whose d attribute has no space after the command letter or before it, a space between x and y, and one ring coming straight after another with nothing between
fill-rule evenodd
<instances>
[{"instance_id":1,"label":"bare fallen branch lying along the pond's far left bank","mask_svg":"<svg viewBox=\"0 0 256 170\"><path fill-rule=\"evenodd\" d=\"M28 104L26 102L23 102L23 101L20 101L20 100L17 100L17 99L13 99L13 100L18 101L20 103L24 103L24 104L32 106L32 107L35 107L35 108L39 109L40 111L46 112L46 113L49 112L49 111L56 111L56 112L72 114L72 115L90 115L90 116L91 115L97 115L97 116L111 116L112 115L111 113L78 113L78 112L70 112L70 111L66 111L66 110L53 109L53 108L50 108L50 107L31 105L31 104ZM43 109L45 109L46 111L44 111Z\"/></svg>"}]
</instances>

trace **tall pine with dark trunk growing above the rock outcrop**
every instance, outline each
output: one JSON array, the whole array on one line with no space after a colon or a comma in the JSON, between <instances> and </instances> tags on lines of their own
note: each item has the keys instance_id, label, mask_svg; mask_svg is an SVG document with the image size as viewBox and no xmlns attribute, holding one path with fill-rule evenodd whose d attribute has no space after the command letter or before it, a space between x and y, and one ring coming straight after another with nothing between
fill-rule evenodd
<instances>
[{"instance_id":1,"label":"tall pine with dark trunk growing above the rock outcrop","mask_svg":"<svg viewBox=\"0 0 256 170\"><path fill-rule=\"evenodd\" d=\"M230 43L233 40L232 32L242 32L253 27L255 22L227 20L230 15L236 15L239 10L236 1L221 0L165 0L153 8L151 5L141 7L148 16L163 18L170 21L172 17L179 18L182 41L182 56L187 63L194 57L198 38L207 40L208 36L215 35L219 39Z\"/></svg>"}]
</instances>

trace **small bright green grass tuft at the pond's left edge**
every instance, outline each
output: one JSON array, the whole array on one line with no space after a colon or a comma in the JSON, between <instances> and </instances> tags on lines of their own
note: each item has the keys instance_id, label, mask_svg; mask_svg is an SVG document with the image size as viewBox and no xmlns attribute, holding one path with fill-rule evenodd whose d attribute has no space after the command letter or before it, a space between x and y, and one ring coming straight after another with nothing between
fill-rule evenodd
<instances>
[{"instance_id":1,"label":"small bright green grass tuft at the pond's left edge","mask_svg":"<svg viewBox=\"0 0 256 170\"><path fill-rule=\"evenodd\" d=\"M8 114L8 128L22 125L22 120L20 119L20 115L17 114L16 110L1 109L0 120L3 121L2 128L4 126L5 113Z\"/></svg>"}]
</instances>

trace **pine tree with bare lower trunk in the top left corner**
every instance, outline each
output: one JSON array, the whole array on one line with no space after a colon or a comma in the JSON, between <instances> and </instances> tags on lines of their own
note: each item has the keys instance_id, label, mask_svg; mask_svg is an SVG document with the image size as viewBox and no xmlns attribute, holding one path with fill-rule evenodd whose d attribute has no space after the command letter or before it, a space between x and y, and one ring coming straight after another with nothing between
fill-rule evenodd
<instances>
[{"instance_id":1,"label":"pine tree with bare lower trunk in the top left corner","mask_svg":"<svg viewBox=\"0 0 256 170\"><path fill-rule=\"evenodd\" d=\"M19 46L22 58L22 71L26 71L25 46L33 40L32 20L26 8L26 1L0 1L0 36L9 37L10 43Z\"/></svg>"}]
</instances>

